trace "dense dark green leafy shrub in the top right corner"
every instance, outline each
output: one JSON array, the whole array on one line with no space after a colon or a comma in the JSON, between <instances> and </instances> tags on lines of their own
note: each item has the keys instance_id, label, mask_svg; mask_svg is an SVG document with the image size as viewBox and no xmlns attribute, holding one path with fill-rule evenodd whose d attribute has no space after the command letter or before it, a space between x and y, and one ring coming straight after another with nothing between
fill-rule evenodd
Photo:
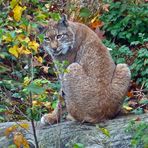
<instances>
[{"instance_id":1,"label":"dense dark green leafy shrub in the top right corner","mask_svg":"<svg viewBox=\"0 0 148 148\"><path fill-rule=\"evenodd\" d=\"M147 7L147 3L137 5L127 1L111 2L109 12L101 16L106 36L122 44L140 40L139 33L145 34L147 38Z\"/></svg>"}]
</instances>

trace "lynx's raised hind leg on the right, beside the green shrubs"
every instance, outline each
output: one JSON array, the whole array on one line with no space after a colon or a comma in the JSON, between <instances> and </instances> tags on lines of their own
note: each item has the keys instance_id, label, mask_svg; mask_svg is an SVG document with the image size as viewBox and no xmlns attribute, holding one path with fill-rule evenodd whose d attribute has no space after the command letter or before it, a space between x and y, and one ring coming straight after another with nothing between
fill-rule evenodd
<instances>
[{"instance_id":1,"label":"lynx's raised hind leg on the right, beside the green shrubs","mask_svg":"<svg viewBox=\"0 0 148 148\"><path fill-rule=\"evenodd\" d=\"M121 102L123 97L126 95L130 79L131 72L128 66L126 64L118 64L114 72L111 86L113 97L119 102Z\"/></svg>"}]
</instances>

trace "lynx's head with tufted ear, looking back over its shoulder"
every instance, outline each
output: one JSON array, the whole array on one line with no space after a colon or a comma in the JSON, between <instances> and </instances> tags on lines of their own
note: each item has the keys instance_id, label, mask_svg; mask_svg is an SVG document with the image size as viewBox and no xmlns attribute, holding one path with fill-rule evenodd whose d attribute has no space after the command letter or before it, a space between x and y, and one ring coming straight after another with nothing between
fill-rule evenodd
<instances>
[{"instance_id":1,"label":"lynx's head with tufted ear, looking back over its shoulder","mask_svg":"<svg viewBox=\"0 0 148 148\"><path fill-rule=\"evenodd\" d=\"M65 15L59 22L49 21L45 31L44 48L52 56L67 54L74 46L74 32L69 27Z\"/></svg>"}]
</instances>

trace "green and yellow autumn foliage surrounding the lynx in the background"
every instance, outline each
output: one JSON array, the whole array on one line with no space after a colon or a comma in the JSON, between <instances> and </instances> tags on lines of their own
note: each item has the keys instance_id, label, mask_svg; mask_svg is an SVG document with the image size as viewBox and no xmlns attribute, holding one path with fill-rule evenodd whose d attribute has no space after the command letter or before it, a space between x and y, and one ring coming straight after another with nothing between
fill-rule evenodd
<instances>
[{"instance_id":1,"label":"green and yellow autumn foliage surrounding the lynx in the background","mask_svg":"<svg viewBox=\"0 0 148 148\"><path fill-rule=\"evenodd\" d=\"M60 98L58 72L53 70L51 58L42 48L44 34L38 28L47 24L49 18L58 21L62 13L94 30L112 49L116 63L130 65L132 82L123 108L126 113L147 112L146 7L145 1L130 0L0 1L0 121L38 121L42 114L54 109ZM58 64L62 70L64 63ZM6 136L12 132L18 147L20 143L28 146L17 126L8 128Z\"/></svg>"}]
</instances>

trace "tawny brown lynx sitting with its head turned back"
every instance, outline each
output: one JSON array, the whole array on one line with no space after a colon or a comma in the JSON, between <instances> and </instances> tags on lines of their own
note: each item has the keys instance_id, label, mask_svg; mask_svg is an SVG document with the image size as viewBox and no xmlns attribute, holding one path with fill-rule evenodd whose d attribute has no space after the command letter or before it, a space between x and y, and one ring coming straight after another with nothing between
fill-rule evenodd
<instances>
[{"instance_id":1,"label":"tawny brown lynx sitting with its head turned back","mask_svg":"<svg viewBox=\"0 0 148 148\"><path fill-rule=\"evenodd\" d=\"M49 21L43 44L53 61L69 62L68 72L59 78L70 117L97 123L119 112L130 82L130 70L126 64L115 65L96 33L63 15L59 22ZM58 106L41 118L43 124L57 121Z\"/></svg>"}]
</instances>

